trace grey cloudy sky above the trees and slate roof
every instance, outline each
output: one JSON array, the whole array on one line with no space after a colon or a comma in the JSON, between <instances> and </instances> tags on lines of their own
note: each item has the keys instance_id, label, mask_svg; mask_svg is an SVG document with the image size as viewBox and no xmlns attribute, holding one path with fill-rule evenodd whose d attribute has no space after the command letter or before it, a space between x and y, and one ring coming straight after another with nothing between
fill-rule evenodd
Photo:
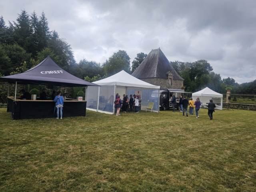
<instances>
[{"instance_id":1,"label":"grey cloudy sky above the trees and slate roof","mask_svg":"<svg viewBox=\"0 0 256 192\"><path fill-rule=\"evenodd\" d=\"M255 0L0 0L6 25L21 10L46 14L76 62L131 58L159 48L169 61L207 60L222 78L256 79Z\"/></svg>"}]
</instances>

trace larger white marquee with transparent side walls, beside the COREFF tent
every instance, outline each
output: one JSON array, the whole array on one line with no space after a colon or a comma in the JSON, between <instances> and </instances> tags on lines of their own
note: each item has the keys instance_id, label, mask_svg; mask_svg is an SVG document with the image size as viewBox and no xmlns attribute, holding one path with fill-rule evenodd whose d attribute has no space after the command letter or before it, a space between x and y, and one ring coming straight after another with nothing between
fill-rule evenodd
<instances>
[{"instance_id":1,"label":"larger white marquee with transparent side walls, beside the COREFF tent","mask_svg":"<svg viewBox=\"0 0 256 192\"><path fill-rule=\"evenodd\" d=\"M128 95L129 99L130 94L139 94L141 110L146 110L148 103L154 102L152 111L159 112L159 98L152 98L151 94L153 91L157 90L159 95L160 86L155 86L139 80L124 70L93 83L100 86L96 88L87 88L86 108L88 110L114 114L114 99L116 93L118 93L121 96L121 99L123 98L123 94Z\"/></svg>"}]
</instances>

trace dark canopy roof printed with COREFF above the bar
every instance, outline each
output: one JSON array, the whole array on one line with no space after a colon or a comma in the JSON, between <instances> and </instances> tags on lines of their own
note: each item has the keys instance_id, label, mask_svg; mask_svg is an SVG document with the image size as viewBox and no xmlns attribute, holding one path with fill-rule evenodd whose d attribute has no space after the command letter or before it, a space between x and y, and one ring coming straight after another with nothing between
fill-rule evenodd
<instances>
[{"instance_id":1,"label":"dark canopy roof printed with COREFF above the bar","mask_svg":"<svg viewBox=\"0 0 256 192\"><path fill-rule=\"evenodd\" d=\"M23 73L0 77L0 82L17 82L18 84L41 84L64 87L98 86L66 72L60 68L50 56L40 62L37 66Z\"/></svg>"}]
</instances>

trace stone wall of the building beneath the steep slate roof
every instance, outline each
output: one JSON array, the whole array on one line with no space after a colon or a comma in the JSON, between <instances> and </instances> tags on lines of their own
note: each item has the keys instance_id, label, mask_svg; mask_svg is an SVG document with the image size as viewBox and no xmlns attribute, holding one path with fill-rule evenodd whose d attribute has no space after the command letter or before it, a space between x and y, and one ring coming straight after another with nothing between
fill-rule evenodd
<instances>
[{"instance_id":1,"label":"stone wall of the building beneath the steep slate roof","mask_svg":"<svg viewBox=\"0 0 256 192\"><path fill-rule=\"evenodd\" d=\"M141 78L140 80L152 85L160 86L161 89L181 89L183 86L183 80L172 80L172 86L169 84L169 79Z\"/></svg>"}]
</instances>

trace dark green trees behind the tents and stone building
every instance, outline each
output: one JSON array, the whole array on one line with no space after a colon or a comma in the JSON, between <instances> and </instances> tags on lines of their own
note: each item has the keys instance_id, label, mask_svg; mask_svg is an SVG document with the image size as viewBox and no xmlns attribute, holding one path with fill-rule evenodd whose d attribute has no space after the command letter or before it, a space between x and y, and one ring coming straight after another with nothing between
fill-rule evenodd
<instances>
[{"instance_id":1,"label":"dark green trees behind the tents and stone building","mask_svg":"<svg viewBox=\"0 0 256 192\"><path fill-rule=\"evenodd\" d=\"M134 72L147 54L138 53L130 66L130 57L125 50L118 50L103 63L80 60L76 63L72 47L58 32L50 31L44 12L40 16L22 10L15 22L0 17L0 76L24 72L50 56L61 68L89 82L106 78L121 70ZM237 93L255 93L254 82L238 84L233 78L222 79L213 72L206 60L196 62L170 62L184 79L185 90L195 92L208 86L220 93L231 87Z\"/></svg>"}]
</instances>

